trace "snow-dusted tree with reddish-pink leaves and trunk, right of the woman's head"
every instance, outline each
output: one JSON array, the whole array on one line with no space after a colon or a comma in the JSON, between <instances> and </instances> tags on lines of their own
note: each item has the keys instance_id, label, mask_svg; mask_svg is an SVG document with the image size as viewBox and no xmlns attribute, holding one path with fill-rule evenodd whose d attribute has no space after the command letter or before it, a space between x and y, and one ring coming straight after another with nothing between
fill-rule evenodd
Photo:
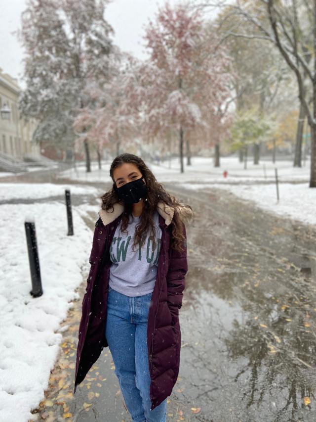
<instances>
[{"instance_id":1,"label":"snow-dusted tree with reddish-pink leaves and trunk, right of the woman's head","mask_svg":"<svg viewBox=\"0 0 316 422\"><path fill-rule=\"evenodd\" d=\"M189 12L186 4L172 9L168 2L146 29L150 58L139 77L144 124L152 135L177 131L181 172L185 143L191 163L188 134L206 128L205 108L218 111L218 99L227 97L229 59L222 49L215 50L212 36L207 37L199 12Z\"/></svg>"}]
</instances>

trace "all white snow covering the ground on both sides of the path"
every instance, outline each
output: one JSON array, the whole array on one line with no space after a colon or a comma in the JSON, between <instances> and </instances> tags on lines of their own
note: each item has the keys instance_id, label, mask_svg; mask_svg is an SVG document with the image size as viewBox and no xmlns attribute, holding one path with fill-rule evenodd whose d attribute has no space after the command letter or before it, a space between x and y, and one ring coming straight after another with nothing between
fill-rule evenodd
<instances>
[{"instance_id":1,"label":"all white snow covering the ground on both sides of the path","mask_svg":"<svg viewBox=\"0 0 316 422\"><path fill-rule=\"evenodd\" d=\"M221 159L221 167L214 168L212 159L193 158L192 168L179 171L178 160L158 166L149 164L158 182L172 182L185 188L227 189L260 207L280 215L316 224L316 189L308 187L309 162L293 168L290 161L261 161L259 166L248 162L248 169L237 158ZM264 178L263 165L266 167ZM61 177L108 182L110 163L103 170L93 163L92 173L86 174L84 165L78 171L68 170ZM276 203L274 183L277 167L279 175L279 203ZM228 177L223 177L223 171ZM238 182L238 184L237 184ZM261 182L261 183L259 183ZM266 182L266 184L262 184ZM295 183L290 183L295 182ZM299 182L299 183L298 183ZM67 235L65 205L47 199L46 203L0 205L0 421L27 422L30 411L44 399L50 370L54 367L62 341L59 331L72 301L79 299L75 289L82 282L82 273L89 269L88 257L93 234L82 217L95 212L98 219L102 192L93 187L53 184L0 184L0 199L45 198L64 194L70 188L74 194L95 194L95 205L81 204L73 209L74 236ZM39 247L43 295L30 295L31 276L25 237L24 221L35 221ZM15 410L19 409L18 412Z\"/></svg>"}]
</instances>

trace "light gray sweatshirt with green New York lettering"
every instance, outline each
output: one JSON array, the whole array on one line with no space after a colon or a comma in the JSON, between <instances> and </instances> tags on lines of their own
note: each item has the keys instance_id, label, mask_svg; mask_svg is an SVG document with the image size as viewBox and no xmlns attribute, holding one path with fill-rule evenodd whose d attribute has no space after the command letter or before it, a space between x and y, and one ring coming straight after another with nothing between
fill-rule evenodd
<instances>
[{"instance_id":1,"label":"light gray sweatshirt with green New York lettering","mask_svg":"<svg viewBox=\"0 0 316 422\"><path fill-rule=\"evenodd\" d=\"M127 234L120 231L120 224L113 236L110 246L110 279L109 285L119 293L126 296L141 296L154 290L158 256L160 251L161 229L159 227L159 215L154 213L156 248L153 249L153 239L149 228L145 243L142 248L139 244L134 246L135 227L140 224L141 217L130 215L127 226Z\"/></svg>"}]
</instances>

